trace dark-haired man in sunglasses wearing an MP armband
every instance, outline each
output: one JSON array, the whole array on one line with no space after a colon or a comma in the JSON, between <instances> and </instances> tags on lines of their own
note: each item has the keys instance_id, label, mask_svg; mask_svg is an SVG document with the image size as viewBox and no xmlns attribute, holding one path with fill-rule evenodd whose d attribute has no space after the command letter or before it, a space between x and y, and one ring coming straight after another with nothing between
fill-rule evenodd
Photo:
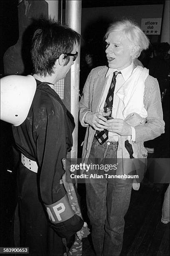
<instances>
[{"instance_id":1,"label":"dark-haired man in sunglasses wearing an MP armband","mask_svg":"<svg viewBox=\"0 0 170 256\"><path fill-rule=\"evenodd\" d=\"M54 20L41 19L32 38L36 90L26 119L13 126L21 153L15 211L15 241L18 236L20 241L15 246L29 247L31 255L63 255L62 238L74 236L84 225L61 182L61 160L72 148L74 118L53 90L74 64L78 44L80 35Z\"/></svg>"}]
</instances>

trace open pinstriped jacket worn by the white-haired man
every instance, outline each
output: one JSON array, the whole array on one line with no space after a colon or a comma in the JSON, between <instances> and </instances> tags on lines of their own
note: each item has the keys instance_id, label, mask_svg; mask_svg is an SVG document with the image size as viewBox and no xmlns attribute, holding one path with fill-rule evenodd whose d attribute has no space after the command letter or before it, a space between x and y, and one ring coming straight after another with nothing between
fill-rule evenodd
<instances>
[{"instance_id":1,"label":"open pinstriped jacket worn by the white-haired man","mask_svg":"<svg viewBox=\"0 0 170 256\"><path fill-rule=\"evenodd\" d=\"M83 94L79 104L80 123L82 126L87 127L87 130L83 144L82 159L88 158L95 135L95 130L83 122L83 117L89 111L93 113L99 112L100 100L108 79L108 76L105 77L107 70L108 67L106 66L92 69L83 88ZM150 75L145 80L143 103L148 112L148 117L145 118L143 125L135 127L135 143L138 145L138 155L140 158L147 157L147 150L143 145L144 141L149 141L160 136L164 133L165 127L159 84L157 79Z\"/></svg>"}]
</instances>

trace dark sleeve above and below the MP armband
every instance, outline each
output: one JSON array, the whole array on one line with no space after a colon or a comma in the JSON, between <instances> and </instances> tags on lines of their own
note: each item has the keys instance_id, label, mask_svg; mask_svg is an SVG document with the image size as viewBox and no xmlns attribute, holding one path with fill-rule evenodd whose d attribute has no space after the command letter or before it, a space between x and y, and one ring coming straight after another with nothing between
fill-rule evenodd
<instances>
[{"instance_id":1,"label":"dark sleeve above and below the MP armband","mask_svg":"<svg viewBox=\"0 0 170 256\"><path fill-rule=\"evenodd\" d=\"M61 159L67 156L65 138L65 116L60 104L55 107L48 95L37 109L35 123L37 132L37 160L40 165L40 194L45 205L51 205L65 194L60 179L63 174ZM51 223L52 228L62 237L72 236L79 231L84 221L74 215L61 223Z\"/></svg>"}]
</instances>

